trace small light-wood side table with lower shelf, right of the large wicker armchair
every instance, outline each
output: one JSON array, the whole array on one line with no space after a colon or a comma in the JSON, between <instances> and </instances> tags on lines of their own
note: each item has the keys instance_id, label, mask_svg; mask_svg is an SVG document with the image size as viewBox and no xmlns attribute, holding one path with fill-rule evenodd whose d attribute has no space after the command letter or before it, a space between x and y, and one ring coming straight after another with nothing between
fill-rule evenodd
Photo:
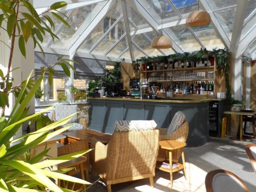
<instances>
[{"instance_id":1,"label":"small light-wood side table with lower shelf, right of the large wicker armchair","mask_svg":"<svg viewBox=\"0 0 256 192\"><path fill-rule=\"evenodd\" d=\"M162 161L157 163L156 168L163 170L164 172L170 173L170 187L173 187L173 172L177 172L178 170L183 169L183 174L185 179L187 179L186 175L186 166L185 166L185 158L184 158L184 151L183 147L186 146L186 143L174 141L174 140L162 140L159 141L159 147L166 150L169 154L169 163L166 161ZM182 157L182 164L174 163L172 158L172 151L177 150L178 148L181 149L181 157Z\"/></svg>"}]
</instances>

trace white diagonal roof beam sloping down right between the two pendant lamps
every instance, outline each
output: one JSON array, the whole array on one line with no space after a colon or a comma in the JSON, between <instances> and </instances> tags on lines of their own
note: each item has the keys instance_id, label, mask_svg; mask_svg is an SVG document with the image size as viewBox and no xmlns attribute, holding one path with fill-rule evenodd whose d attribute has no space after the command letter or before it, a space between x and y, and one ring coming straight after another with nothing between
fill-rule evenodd
<instances>
[{"instance_id":1,"label":"white diagonal roof beam sloping down right between the two pendant lamps","mask_svg":"<svg viewBox=\"0 0 256 192\"><path fill-rule=\"evenodd\" d=\"M152 29L157 33L157 35L161 35L161 33L159 32L159 25L156 22L156 20L152 17L152 15L150 13L148 13L144 7L137 1L137 0L129 0L126 1L127 4L129 4L142 18L144 18L144 20L146 21L146 23L152 27ZM161 26L160 26L161 27ZM160 28L161 29L161 28ZM166 36L167 33L164 33ZM172 39L173 40L173 39ZM183 53L182 49L176 44L176 42L173 40L173 46L172 49L175 52L179 52L179 53Z\"/></svg>"}]
</instances>

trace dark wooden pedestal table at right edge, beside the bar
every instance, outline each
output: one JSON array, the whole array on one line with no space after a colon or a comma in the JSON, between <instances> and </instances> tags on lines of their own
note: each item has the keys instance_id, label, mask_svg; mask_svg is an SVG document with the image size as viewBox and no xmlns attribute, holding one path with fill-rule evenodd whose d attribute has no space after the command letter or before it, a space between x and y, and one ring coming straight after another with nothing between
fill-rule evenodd
<instances>
[{"instance_id":1,"label":"dark wooden pedestal table at right edge, beside the bar","mask_svg":"<svg viewBox=\"0 0 256 192\"><path fill-rule=\"evenodd\" d=\"M248 139L248 138L243 138L243 116L244 115L248 115L248 116L254 116L256 115L256 112L252 113L252 112L236 112L236 111L225 111L224 114L227 115L239 115L239 135L238 137L230 137L230 139L232 140L236 140L236 141L252 141L252 139Z\"/></svg>"}]
</instances>

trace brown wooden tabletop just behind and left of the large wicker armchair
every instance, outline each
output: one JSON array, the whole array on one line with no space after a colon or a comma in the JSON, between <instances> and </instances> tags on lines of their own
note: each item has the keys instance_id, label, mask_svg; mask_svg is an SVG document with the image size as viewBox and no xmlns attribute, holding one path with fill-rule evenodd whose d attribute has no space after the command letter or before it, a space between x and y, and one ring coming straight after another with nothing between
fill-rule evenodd
<instances>
[{"instance_id":1,"label":"brown wooden tabletop just behind and left of the large wicker armchair","mask_svg":"<svg viewBox=\"0 0 256 192\"><path fill-rule=\"evenodd\" d=\"M101 133L92 130L66 132L63 133L63 135L66 135L67 137L61 141L62 144L69 144L80 140L87 140L90 144L93 137L98 139L103 144L107 144L111 139L111 134Z\"/></svg>"}]
</instances>

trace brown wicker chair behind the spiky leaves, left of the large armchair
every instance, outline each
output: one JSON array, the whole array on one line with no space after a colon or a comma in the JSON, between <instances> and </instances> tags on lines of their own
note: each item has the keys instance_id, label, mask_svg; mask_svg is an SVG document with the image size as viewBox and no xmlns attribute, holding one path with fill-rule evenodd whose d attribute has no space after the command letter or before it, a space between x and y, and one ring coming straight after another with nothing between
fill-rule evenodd
<instances>
[{"instance_id":1,"label":"brown wicker chair behind the spiky leaves, left of the large armchair","mask_svg":"<svg viewBox=\"0 0 256 192\"><path fill-rule=\"evenodd\" d=\"M89 149L89 143L86 140L81 140L81 141L77 141L71 144L58 147L57 153L58 153L58 156L62 156L66 154L88 150L88 149ZM87 158L87 162L84 164L83 168L84 168L84 172L86 172L86 180L89 181L89 172L88 172L89 166L90 166L89 153L86 153L83 156ZM80 173L80 170L79 170L79 167L76 167L75 169L68 172L68 175L72 176L78 173Z\"/></svg>"}]
</instances>

